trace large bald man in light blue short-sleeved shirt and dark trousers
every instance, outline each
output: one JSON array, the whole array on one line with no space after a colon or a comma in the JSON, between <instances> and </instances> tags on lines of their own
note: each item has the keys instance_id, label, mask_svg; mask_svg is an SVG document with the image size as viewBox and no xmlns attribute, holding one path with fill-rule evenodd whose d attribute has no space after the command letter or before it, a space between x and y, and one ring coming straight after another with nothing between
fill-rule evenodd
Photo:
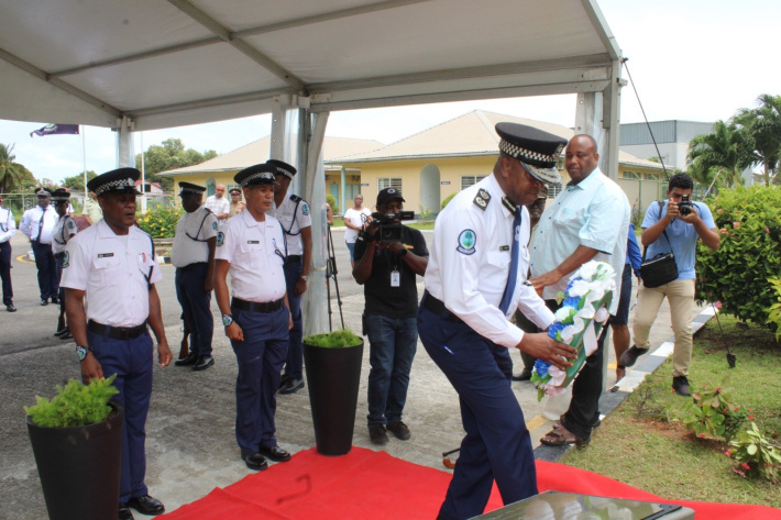
<instances>
[{"instance_id":1,"label":"large bald man in light blue short-sleeved shirt and dark trousers","mask_svg":"<svg viewBox=\"0 0 781 520\"><path fill-rule=\"evenodd\" d=\"M596 166L600 154L588 135L575 135L566 146L564 167L570 182L546 208L531 240L531 276L535 289L551 310L554 298L566 289L570 276L588 261L607 262L616 273L616 294L608 309L618 307L629 232L629 201L620 187ZM587 444L600 418L605 331L597 350L586 358L572 387L572 402L561 423L543 436L543 444Z\"/></svg>"}]
</instances>

